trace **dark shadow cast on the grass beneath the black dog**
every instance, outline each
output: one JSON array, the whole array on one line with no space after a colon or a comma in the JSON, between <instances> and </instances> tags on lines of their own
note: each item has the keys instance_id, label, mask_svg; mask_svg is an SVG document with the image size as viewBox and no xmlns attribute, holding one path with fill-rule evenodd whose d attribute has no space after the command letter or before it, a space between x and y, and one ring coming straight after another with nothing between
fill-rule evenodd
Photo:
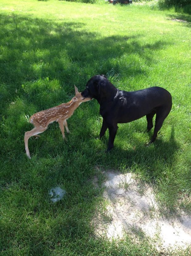
<instances>
[{"instance_id":1,"label":"dark shadow cast on the grass beneath the black dog","mask_svg":"<svg viewBox=\"0 0 191 256\"><path fill-rule=\"evenodd\" d=\"M142 132L143 136L145 134L146 132ZM117 169L131 169L132 171L135 166L139 169L144 169L152 179L152 177L157 178L156 175L159 175L159 169L162 171L164 167L172 167L176 151L180 147L175 140L174 126L171 127L169 140L165 140L163 135L160 136L159 134L156 141L149 146L147 146L147 141L145 143L140 142L141 134L139 136L136 135L129 134L127 147L122 147L122 143L118 142L124 139L119 134L119 138L114 143L114 148L107 153L108 158L116 162ZM149 132L149 136L151 135L152 131ZM107 146L108 136L104 138L103 143Z\"/></svg>"}]
</instances>

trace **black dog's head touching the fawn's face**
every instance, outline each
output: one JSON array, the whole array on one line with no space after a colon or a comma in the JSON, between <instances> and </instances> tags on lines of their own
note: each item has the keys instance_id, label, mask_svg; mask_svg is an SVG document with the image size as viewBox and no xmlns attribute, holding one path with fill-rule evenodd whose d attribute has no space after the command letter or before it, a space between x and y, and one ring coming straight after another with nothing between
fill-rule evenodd
<instances>
[{"instance_id":1,"label":"black dog's head touching the fawn's face","mask_svg":"<svg viewBox=\"0 0 191 256\"><path fill-rule=\"evenodd\" d=\"M102 97L110 97L116 92L115 86L110 83L105 75L94 75L86 84L86 89L81 92L84 98L95 98L100 101Z\"/></svg>"}]
</instances>

